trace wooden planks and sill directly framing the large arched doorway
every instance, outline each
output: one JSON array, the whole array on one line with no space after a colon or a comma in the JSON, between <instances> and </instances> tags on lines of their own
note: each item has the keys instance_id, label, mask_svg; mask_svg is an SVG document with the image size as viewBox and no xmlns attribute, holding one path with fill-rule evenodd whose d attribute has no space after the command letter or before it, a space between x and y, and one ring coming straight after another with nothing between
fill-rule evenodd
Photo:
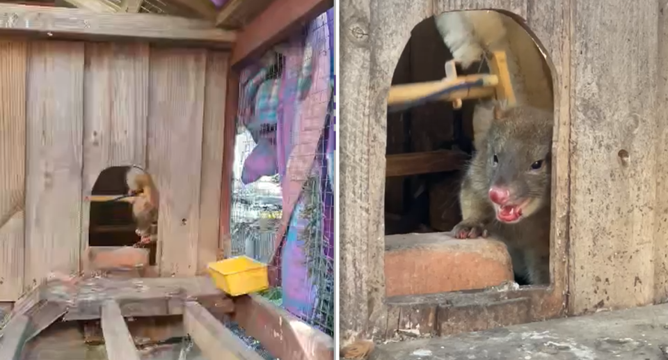
<instances>
[{"instance_id":1,"label":"wooden planks and sill directly framing the large arched doorway","mask_svg":"<svg viewBox=\"0 0 668 360\"><path fill-rule=\"evenodd\" d=\"M401 334L439 336L555 318L566 311L569 189L569 54L566 2L344 1L340 125L342 345L360 338L383 341ZM383 203L386 98L392 74L418 22L449 10L502 10L536 33L555 86L550 271L546 287L452 292L385 298ZM372 13L369 16L369 12ZM401 21L397 21L401 18ZM397 36L397 34L401 34ZM536 38L536 37L534 37ZM365 90L360 90L365 89ZM366 90L368 89L368 90ZM361 93L360 93L361 91ZM358 94L358 95L347 95ZM361 99L361 100L360 100ZM363 119L353 121L352 119ZM368 134L374 134L369 136ZM358 154L365 154L359 156ZM373 204L370 206L369 204ZM360 314L368 314L363 316ZM484 314L484 315L482 315Z\"/></svg>"}]
</instances>

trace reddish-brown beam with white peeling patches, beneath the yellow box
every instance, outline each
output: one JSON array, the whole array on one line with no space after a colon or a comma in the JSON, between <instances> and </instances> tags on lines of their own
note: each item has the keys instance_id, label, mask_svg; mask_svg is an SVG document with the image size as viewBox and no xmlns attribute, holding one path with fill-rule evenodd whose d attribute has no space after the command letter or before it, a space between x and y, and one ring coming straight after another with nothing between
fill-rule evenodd
<instances>
[{"instance_id":1,"label":"reddish-brown beam with white peeling patches, beneath the yellow box","mask_svg":"<svg viewBox=\"0 0 668 360\"><path fill-rule=\"evenodd\" d=\"M334 340L259 295L234 298L232 320L278 359L334 359Z\"/></svg>"}]
</instances>

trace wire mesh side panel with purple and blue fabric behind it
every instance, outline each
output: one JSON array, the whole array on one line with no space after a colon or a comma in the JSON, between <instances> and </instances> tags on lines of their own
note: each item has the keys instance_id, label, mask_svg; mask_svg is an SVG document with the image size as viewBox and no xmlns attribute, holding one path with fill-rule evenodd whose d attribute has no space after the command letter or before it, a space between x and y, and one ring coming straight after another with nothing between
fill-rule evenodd
<instances>
[{"instance_id":1,"label":"wire mesh side panel with purple and blue fabric behind it","mask_svg":"<svg viewBox=\"0 0 668 360\"><path fill-rule=\"evenodd\" d=\"M276 267L274 300L331 335L333 21L331 9L241 72L230 216L230 256Z\"/></svg>"}]
</instances>

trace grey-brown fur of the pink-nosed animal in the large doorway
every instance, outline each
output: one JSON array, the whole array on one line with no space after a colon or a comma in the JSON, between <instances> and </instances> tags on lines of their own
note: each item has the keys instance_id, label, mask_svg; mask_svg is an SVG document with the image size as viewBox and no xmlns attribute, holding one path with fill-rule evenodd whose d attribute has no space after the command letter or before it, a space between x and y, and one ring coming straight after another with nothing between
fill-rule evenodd
<instances>
[{"instance_id":1,"label":"grey-brown fur of the pink-nosed animal in the large doorway","mask_svg":"<svg viewBox=\"0 0 668 360\"><path fill-rule=\"evenodd\" d=\"M516 107L493 120L463 179L459 200L463 220L457 237L492 235L508 246L514 272L530 283L550 282L550 178L553 115L532 107ZM498 163L493 164L497 155ZM531 169L543 160L541 169ZM530 199L514 224L496 217L488 191L510 189L514 200Z\"/></svg>"}]
</instances>

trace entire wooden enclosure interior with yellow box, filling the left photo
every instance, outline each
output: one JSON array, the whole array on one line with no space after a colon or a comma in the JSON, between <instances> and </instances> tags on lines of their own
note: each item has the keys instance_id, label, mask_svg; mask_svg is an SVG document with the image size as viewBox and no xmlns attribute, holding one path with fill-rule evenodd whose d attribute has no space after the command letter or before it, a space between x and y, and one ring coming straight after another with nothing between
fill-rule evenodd
<instances>
[{"instance_id":1,"label":"entire wooden enclosure interior with yellow box, filling the left photo","mask_svg":"<svg viewBox=\"0 0 668 360\"><path fill-rule=\"evenodd\" d=\"M333 359L333 1L0 10L0 359Z\"/></svg>"}]
</instances>

